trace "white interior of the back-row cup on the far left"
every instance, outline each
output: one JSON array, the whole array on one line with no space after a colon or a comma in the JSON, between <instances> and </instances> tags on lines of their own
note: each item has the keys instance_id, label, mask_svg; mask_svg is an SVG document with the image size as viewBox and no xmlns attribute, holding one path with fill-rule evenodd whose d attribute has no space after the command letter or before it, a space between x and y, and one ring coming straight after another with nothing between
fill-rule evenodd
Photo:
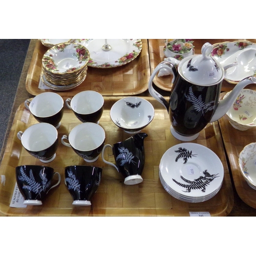
<instances>
[{"instance_id":1,"label":"white interior of the back-row cup on the far left","mask_svg":"<svg viewBox=\"0 0 256 256\"><path fill-rule=\"evenodd\" d=\"M64 101L57 93L41 93L35 96L29 104L31 113L38 117L50 117L58 113Z\"/></svg>"}]
</instances>

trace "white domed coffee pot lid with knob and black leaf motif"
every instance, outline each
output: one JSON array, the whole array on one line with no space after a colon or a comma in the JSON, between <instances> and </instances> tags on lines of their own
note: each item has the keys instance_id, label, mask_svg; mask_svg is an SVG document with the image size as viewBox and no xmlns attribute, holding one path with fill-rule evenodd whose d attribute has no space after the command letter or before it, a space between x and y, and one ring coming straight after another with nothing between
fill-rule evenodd
<instances>
[{"instance_id":1,"label":"white domed coffee pot lid with knob and black leaf motif","mask_svg":"<svg viewBox=\"0 0 256 256\"><path fill-rule=\"evenodd\" d=\"M178 71L191 83L209 86L223 80L224 69L210 56L212 45L206 42L201 55L189 56L181 60Z\"/></svg>"}]
</instances>

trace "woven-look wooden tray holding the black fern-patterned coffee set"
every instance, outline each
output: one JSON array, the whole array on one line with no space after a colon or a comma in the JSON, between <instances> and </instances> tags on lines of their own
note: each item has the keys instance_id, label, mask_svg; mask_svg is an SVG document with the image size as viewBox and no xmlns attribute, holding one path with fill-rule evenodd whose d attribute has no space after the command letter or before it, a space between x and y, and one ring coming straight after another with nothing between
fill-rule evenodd
<instances>
[{"instance_id":1,"label":"woven-look wooden tray holding the black fern-patterned coffee set","mask_svg":"<svg viewBox=\"0 0 256 256\"><path fill-rule=\"evenodd\" d=\"M105 143L114 144L131 136L120 131L110 119L110 108L120 98L104 97L105 110L100 119L100 125L106 133ZM103 167L103 172L91 207L72 205L73 200L63 181L64 167L74 164L87 165L88 163L79 158L72 148L62 145L61 141L56 158L51 163L46 164L60 173L60 185L50 190L48 197L41 206L9 207L15 186L15 167L23 164L41 164L39 160L24 150L16 136L18 131L24 131L36 123L24 105L20 105L11 127L6 151L0 166L0 177L1 175L6 177L5 185L0 184L0 216L189 216L189 211L208 211L211 216L227 216L233 207L234 199L218 122L209 124L201 132L198 139L193 142L207 146L219 156L225 173L223 185L219 193L208 201L186 203L170 196L159 180L161 157L169 147L181 143L181 141L170 134L169 116L162 105L151 97L145 98L153 104L155 117L143 130L148 134L144 139L145 166L142 173L144 180L137 185L124 185L123 177L114 167L106 165L100 156L93 165ZM73 112L66 108L61 126L58 129L59 138L63 134L68 134L79 123ZM110 151L106 151L105 154L106 160L114 162L114 157Z\"/></svg>"}]
</instances>

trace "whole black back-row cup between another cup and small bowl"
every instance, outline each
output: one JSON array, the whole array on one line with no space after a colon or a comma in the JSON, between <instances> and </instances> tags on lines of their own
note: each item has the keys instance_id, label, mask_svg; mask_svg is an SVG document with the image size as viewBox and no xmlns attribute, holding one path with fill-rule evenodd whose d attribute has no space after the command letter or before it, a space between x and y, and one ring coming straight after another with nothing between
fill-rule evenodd
<instances>
[{"instance_id":1,"label":"whole black back-row cup between another cup and small bowl","mask_svg":"<svg viewBox=\"0 0 256 256\"><path fill-rule=\"evenodd\" d=\"M103 113L104 98L95 91L83 91L72 99L66 100L66 105L71 109L81 122L99 123Z\"/></svg>"}]
</instances>

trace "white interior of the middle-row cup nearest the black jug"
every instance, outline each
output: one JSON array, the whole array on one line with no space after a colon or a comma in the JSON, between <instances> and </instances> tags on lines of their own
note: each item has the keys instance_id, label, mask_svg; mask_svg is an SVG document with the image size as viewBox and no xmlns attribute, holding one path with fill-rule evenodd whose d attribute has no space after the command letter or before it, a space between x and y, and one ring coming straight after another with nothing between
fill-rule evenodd
<instances>
[{"instance_id":1,"label":"white interior of the middle-row cup nearest the black jug","mask_svg":"<svg viewBox=\"0 0 256 256\"><path fill-rule=\"evenodd\" d=\"M81 123L69 134L70 145L79 151L91 151L99 147L105 139L103 128L96 123Z\"/></svg>"}]
</instances>

